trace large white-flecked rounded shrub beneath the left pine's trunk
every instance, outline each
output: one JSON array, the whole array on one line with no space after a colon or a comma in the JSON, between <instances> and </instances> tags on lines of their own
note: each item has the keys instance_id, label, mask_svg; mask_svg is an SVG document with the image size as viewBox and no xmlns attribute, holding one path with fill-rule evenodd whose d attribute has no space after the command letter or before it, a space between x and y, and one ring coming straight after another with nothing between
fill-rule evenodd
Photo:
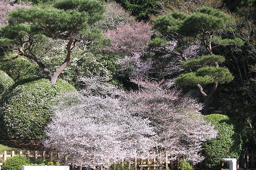
<instances>
[{"instance_id":1,"label":"large white-flecked rounded shrub beneath the left pine's trunk","mask_svg":"<svg viewBox=\"0 0 256 170\"><path fill-rule=\"evenodd\" d=\"M3 94L0 103L0 134L5 139L38 140L45 136L44 128L51 121L51 105L56 96L75 91L64 80L52 84L37 78L15 83Z\"/></svg>"}]
</instances>

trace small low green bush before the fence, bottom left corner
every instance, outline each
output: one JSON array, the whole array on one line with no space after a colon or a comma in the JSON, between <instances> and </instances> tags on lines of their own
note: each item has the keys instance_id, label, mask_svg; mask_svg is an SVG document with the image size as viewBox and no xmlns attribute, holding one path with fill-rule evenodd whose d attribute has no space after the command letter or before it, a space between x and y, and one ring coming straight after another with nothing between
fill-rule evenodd
<instances>
[{"instance_id":1,"label":"small low green bush before the fence, bottom left corner","mask_svg":"<svg viewBox=\"0 0 256 170\"><path fill-rule=\"evenodd\" d=\"M8 158L3 163L3 170L21 170L22 165L29 164L29 160L27 157L17 155L15 157Z\"/></svg>"}]
</instances>

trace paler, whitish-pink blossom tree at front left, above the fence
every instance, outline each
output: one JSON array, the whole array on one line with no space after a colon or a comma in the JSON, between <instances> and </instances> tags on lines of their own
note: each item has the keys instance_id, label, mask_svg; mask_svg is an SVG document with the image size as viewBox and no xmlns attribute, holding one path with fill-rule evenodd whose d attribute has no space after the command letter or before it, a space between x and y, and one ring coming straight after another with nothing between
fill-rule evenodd
<instances>
[{"instance_id":1,"label":"paler, whitish-pink blossom tree at front left, above the fence","mask_svg":"<svg viewBox=\"0 0 256 170\"><path fill-rule=\"evenodd\" d=\"M68 162L85 167L149 156L148 151L156 146L149 119L133 115L115 97L93 96L94 86L89 89L61 98L44 145L60 151L62 158L68 155Z\"/></svg>"}]
</instances>

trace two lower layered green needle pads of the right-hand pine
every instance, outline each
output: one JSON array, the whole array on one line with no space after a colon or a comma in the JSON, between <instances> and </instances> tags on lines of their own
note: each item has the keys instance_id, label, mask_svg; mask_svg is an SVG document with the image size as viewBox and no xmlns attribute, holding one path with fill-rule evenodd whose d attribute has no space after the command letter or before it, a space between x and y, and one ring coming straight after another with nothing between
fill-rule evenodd
<instances>
[{"instance_id":1,"label":"two lower layered green needle pads of the right-hand pine","mask_svg":"<svg viewBox=\"0 0 256 170\"><path fill-rule=\"evenodd\" d=\"M216 63L222 63L224 60L223 56L212 54L181 62L181 67L192 72L184 73L175 78L175 82L180 86L205 85L216 81L219 83L230 82L234 78L230 71L225 67L216 67Z\"/></svg>"}]
</instances>

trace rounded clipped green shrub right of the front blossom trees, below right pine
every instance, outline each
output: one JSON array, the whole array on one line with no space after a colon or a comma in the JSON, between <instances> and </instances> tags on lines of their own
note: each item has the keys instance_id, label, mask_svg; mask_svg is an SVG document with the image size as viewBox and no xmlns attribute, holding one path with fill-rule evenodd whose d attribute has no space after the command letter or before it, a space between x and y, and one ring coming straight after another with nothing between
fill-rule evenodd
<instances>
[{"instance_id":1,"label":"rounded clipped green shrub right of the front blossom trees, below right pine","mask_svg":"<svg viewBox=\"0 0 256 170\"><path fill-rule=\"evenodd\" d=\"M206 115L204 119L218 130L217 138L203 144L205 165L212 168L220 165L221 158L239 159L242 150L241 129L234 120L222 114Z\"/></svg>"}]
</instances>

